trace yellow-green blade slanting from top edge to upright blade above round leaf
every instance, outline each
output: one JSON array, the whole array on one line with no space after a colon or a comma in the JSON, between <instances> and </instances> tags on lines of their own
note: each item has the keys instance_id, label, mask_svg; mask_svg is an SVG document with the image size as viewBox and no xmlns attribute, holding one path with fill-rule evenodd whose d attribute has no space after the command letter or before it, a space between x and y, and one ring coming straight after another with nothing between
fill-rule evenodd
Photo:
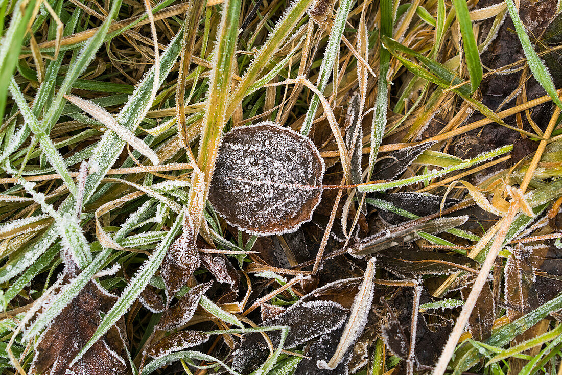
<instances>
[{"instance_id":1,"label":"yellow-green blade slanting from top edge to upright blade above round leaf","mask_svg":"<svg viewBox=\"0 0 562 375\"><path fill-rule=\"evenodd\" d=\"M242 81L236 85L234 92L230 96L228 109L226 109L227 118L230 118L234 113L234 109L242 102L242 99L250 94L251 87L258 80L261 70L268 65L275 51L277 51L283 40L287 38L287 35L291 33L297 22L301 20L312 1L314 0L298 0L283 13L281 21L277 23L275 29L270 33L270 37L268 37L264 46L259 49L256 57L244 72Z\"/></svg>"}]
</instances>

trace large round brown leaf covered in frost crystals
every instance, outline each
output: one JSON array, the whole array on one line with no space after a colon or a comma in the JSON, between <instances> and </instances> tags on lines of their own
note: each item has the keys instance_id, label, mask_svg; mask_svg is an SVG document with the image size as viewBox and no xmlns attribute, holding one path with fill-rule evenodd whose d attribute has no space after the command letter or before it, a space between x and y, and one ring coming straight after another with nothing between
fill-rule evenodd
<instances>
[{"instance_id":1,"label":"large round brown leaf covered in frost crystals","mask_svg":"<svg viewBox=\"0 0 562 375\"><path fill-rule=\"evenodd\" d=\"M324 161L312 141L265 121L239 126L219 148L209 200L251 234L293 232L320 202Z\"/></svg>"}]
</instances>

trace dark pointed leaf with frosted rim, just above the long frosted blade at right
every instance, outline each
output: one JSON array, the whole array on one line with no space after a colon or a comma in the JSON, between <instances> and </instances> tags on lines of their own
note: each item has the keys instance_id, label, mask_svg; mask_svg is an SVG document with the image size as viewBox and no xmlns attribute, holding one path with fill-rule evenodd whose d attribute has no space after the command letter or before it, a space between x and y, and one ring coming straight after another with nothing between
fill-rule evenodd
<instances>
[{"instance_id":1,"label":"dark pointed leaf with frosted rim, just above the long frosted blade at right","mask_svg":"<svg viewBox=\"0 0 562 375\"><path fill-rule=\"evenodd\" d=\"M397 177L397 175L404 172L418 156L422 155L422 152L436 143L437 141L425 142L417 144L416 146L392 151L387 155L382 155L380 157L381 160L375 163L373 177L371 179L392 180Z\"/></svg>"}]
</instances>

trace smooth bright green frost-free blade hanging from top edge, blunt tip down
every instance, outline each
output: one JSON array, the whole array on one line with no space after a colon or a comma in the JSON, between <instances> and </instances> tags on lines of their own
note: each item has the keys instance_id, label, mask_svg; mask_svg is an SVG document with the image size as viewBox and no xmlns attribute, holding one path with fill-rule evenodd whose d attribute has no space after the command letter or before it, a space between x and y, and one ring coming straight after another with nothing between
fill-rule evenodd
<instances>
[{"instance_id":1,"label":"smooth bright green frost-free blade hanging from top edge, blunt tip down","mask_svg":"<svg viewBox=\"0 0 562 375\"><path fill-rule=\"evenodd\" d=\"M480 55L476 40L474 39L474 32L472 30L472 21L470 21L470 14L466 0L452 0L457 15L457 21L460 25L460 33L463 36L463 49L466 60L466 67L470 76L470 87L472 93L476 91L482 82L482 64L480 62Z\"/></svg>"}]
</instances>

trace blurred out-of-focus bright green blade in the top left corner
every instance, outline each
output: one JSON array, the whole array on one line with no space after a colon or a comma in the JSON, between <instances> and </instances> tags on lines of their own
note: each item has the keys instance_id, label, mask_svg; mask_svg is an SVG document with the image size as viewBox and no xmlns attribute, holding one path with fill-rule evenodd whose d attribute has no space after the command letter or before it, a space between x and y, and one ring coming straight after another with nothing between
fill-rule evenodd
<instances>
[{"instance_id":1,"label":"blurred out-of-focus bright green blade in the top left corner","mask_svg":"<svg viewBox=\"0 0 562 375\"><path fill-rule=\"evenodd\" d=\"M27 2L24 8L22 8L23 4L24 1L19 1L13 7L10 26L8 26L6 34L2 37L2 43L0 43L0 122L4 117L8 85L19 60L21 44L27 34L26 29L33 15L35 0Z\"/></svg>"}]
</instances>

